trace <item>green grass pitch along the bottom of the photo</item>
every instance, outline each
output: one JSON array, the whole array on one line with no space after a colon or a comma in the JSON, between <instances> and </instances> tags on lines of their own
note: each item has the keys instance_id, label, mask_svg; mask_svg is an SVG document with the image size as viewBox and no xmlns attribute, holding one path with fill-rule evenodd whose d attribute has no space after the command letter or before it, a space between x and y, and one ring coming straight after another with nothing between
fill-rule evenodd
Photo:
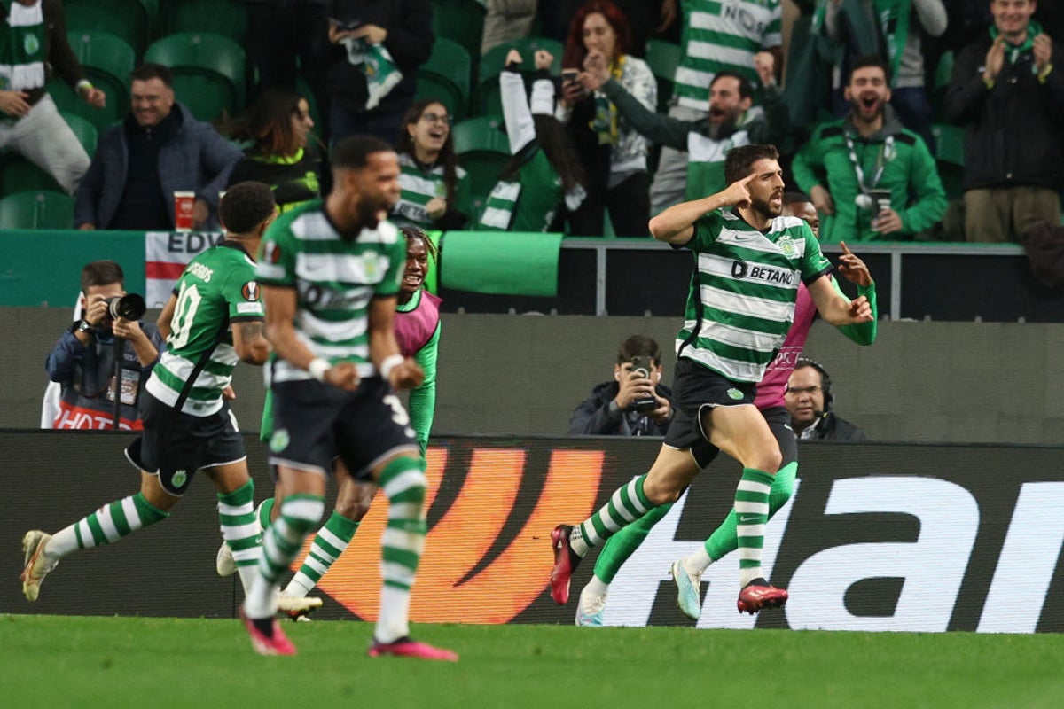
<instances>
[{"instance_id":1,"label":"green grass pitch along the bottom of the photo","mask_svg":"<svg viewBox=\"0 0 1064 709\"><path fill-rule=\"evenodd\" d=\"M0 614L0 706L1061 707L1060 635L417 625L458 664L365 655L372 625Z\"/></svg>"}]
</instances>

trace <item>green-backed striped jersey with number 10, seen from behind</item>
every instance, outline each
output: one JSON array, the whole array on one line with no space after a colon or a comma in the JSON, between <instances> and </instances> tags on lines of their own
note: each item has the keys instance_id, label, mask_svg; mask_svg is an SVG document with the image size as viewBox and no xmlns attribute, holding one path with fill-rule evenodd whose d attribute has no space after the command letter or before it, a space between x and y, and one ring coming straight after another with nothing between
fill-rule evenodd
<instances>
[{"instance_id":1,"label":"green-backed striped jersey with number 10, seen from behind","mask_svg":"<svg viewBox=\"0 0 1064 709\"><path fill-rule=\"evenodd\" d=\"M221 241L185 267L173 293L166 352L145 386L168 406L187 392L181 410L211 416L221 408L221 390L239 361L230 323L263 319L255 263L236 241Z\"/></svg>"}]
</instances>

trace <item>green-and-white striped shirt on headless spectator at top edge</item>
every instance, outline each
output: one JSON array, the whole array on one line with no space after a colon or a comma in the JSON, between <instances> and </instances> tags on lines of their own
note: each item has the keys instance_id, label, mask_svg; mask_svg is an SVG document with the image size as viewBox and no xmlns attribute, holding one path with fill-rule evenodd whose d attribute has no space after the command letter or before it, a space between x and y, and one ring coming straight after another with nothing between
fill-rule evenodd
<instances>
[{"instance_id":1,"label":"green-and-white striped shirt on headless spectator at top edge","mask_svg":"<svg viewBox=\"0 0 1064 709\"><path fill-rule=\"evenodd\" d=\"M783 44L782 0L683 0L683 56L674 95L680 105L706 111L710 82L734 71L758 86L753 55Z\"/></svg>"}]
</instances>

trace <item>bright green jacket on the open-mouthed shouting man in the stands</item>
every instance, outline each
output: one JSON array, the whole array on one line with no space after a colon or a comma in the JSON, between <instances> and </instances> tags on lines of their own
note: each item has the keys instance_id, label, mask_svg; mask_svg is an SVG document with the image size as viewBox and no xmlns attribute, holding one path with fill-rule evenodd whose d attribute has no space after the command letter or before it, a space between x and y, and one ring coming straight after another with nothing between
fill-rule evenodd
<instances>
[{"instance_id":1,"label":"bright green jacket on the open-mouthed shouting man in the stands","mask_svg":"<svg viewBox=\"0 0 1064 709\"><path fill-rule=\"evenodd\" d=\"M847 116L819 125L795 155L792 170L798 187L804 192L817 185L826 187L835 203L835 214L821 220L821 241L909 241L946 214L946 192L927 145L901 126L890 105L884 111L883 128L878 133L861 137ZM874 232L875 215L857 206L861 188L846 133L852 136L853 152L869 189L891 190L891 206L901 216L900 232L885 236ZM882 174L871 184L880 169Z\"/></svg>"}]
</instances>

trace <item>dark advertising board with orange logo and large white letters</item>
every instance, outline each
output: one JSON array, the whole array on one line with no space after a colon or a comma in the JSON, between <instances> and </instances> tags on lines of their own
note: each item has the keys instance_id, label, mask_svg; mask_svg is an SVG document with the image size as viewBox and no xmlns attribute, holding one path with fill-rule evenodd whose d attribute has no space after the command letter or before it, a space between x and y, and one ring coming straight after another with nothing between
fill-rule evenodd
<instances>
[{"instance_id":1,"label":"dark advertising board with orange logo and large white letters","mask_svg":"<svg viewBox=\"0 0 1064 709\"><path fill-rule=\"evenodd\" d=\"M17 539L55 530L130 494L129 434L0 433L10 482L0 538L0 610L16 613L234 617L240 591L215 574L215 495L196 480L172 519L114 547L64 559L36 604L21 597ZM270 493L265 451L248 438L256 500ZM644 471L655 439L440 438L428 456L429 537L415 622L571 623L549 595L550 530L577 522ZM783 611L735 610L734 555L703 576L698 627L936 632L1064 630L1062 449L804 443L795 496L768 525L764 561L788 588ZM738 466L721 457L616 577L610 625L683 625L667 572L729 509ZM330 501L331 503L331 501ZM323 579L320 619L373 619L379 501ZM593 552L594 554L594 552Z\"/></svg>"}]
</instances>

